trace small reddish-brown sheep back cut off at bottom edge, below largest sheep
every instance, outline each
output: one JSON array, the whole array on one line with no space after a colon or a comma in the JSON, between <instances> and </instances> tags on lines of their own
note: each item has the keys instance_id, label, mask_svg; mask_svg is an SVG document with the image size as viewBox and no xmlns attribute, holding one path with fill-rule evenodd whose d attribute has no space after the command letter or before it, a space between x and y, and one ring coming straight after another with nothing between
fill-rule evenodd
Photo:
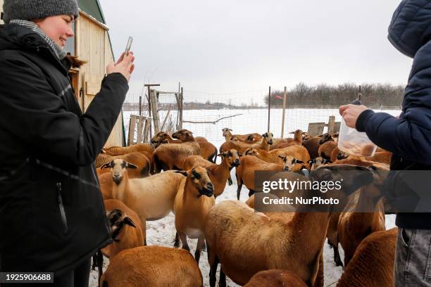
<instances>
[{"instance_id":1,"label":"small reddish-brown sheep back cut off at bottom edge, below largest sheep","mask_svg":"<svg viewBox=\"0 0 431 287\"><path fill-rule=\"evenodd\" d=\"M282 269L270 269L254 274L244 287L289 286L307 287L294 273Z\"/></svg>"}]
</instances>

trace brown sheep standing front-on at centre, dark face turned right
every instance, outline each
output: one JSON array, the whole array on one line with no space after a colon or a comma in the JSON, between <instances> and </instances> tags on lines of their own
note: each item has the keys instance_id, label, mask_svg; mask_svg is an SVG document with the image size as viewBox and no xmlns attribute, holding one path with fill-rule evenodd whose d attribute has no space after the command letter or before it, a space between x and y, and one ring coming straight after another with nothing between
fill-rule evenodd
<instances>
[{"instance_id":1,"label":"brown sheep standing front-on at centre, dark face turned right","mask_svg":"<svg viewBox=\"0 0 431 287\"><path fill-rule=\"evenodd\" d=\"M189 251L187 237L198 238L194 258L199 264L201 250L204 246L204 226L208 211L215 204L214 186L204 167L194 167L187 172L179 171L185 176L178 186L174 201L175 229L180 237L182 248ZM177 245L177 239L175 239Z\"/></svg>"}]
</instances>

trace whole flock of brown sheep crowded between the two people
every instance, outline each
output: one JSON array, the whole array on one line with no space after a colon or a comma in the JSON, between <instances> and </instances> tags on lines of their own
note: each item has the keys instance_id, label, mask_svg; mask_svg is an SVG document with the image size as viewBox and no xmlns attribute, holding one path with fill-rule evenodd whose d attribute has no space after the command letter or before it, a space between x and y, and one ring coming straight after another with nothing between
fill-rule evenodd
<instances>
[{"instance_id":1,"label":"whole flock of brown sheep crowded between the two people","mask_svg":"<svg viewBox=\"0 0 431 287\"><path fill-rule=\"evenodd\" d=\"M96 167L113 243L94 258L100 286L203 286L198 264L204 248L212 287L218 264L219 286L226 286L226 276L242 286L323 286L326 240L335 264L344 268L337 286L393 286L396 229L385 231L381 192L391 153L381 148L372 158L342 153L337 134L310 136L296 130L293 138L276 139L270 132L231 132L223 129L219 149L187 129L158 132L151 144L104 148ZM238 200L215 204L226 184L232 184L233 168ZM331 212L328 205L324 212L261 213L254 212L256 170L286 171L292 180L362 170L368 178L361 185L345 179L344 212ZM239 201L243 185L249 189L246 203ZM362 204L374 212L354 212ZM147 246L146 221L170 212L175 215L175 248ZM187 238L198 240L194 257ZM110 260L103 275L101 254Z\"/></svg>"}]
</instances>

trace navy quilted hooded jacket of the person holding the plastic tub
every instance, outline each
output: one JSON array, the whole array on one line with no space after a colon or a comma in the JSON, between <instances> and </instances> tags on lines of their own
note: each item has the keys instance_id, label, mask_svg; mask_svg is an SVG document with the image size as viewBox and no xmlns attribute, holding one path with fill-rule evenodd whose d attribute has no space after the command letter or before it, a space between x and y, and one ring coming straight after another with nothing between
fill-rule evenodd
<instances>
[{"instance_id":1,"label":"navy quilted hooded jacket of the person holding the plastic tub","mask_svg":"<svg viewBox=\"0 0 431 287\"><path fill-rule=\"evenodd\" d=\"M388 32L395 48L413 58L402 113L396 118L365 110L356 129L392 151L391 170L431 170L431 1L401 1ZM396 225L431 229L431 213L399 213Z\"/></svg>"}]
</instances>

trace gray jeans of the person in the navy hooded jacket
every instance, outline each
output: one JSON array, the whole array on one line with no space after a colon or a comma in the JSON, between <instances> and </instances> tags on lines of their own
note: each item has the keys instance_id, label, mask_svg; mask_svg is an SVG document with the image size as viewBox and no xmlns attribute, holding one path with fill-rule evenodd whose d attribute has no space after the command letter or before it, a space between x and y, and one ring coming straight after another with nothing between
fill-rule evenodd
<instances>
[{"instance_id":1,"label":"gray jeans of the person in the navy hooded jacket","mask_svg":"<svg viewBox=\"0 0 431 287\"><path fill-rule=\"evenodd\" d=\"M395 287L431 287L431 230L398 229Z\"/></svg>"}]
</instances>

